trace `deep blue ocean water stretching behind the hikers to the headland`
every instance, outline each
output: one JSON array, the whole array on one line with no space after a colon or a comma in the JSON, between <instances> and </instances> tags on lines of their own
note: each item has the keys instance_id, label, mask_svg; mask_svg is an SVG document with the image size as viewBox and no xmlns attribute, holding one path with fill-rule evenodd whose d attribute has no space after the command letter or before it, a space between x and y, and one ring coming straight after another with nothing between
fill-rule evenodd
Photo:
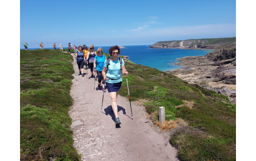
<instances>
[{"instance_id":1,"label":"deep blue ocean water stretching behind the hikers to the headland","mask_svg":"<svg viewBox=\"0 0 256 161\"><path fill-rule=\"evenodd\" d=\"M89 45L90 46L90 45ZM150 49L150 45L123 45L125 49L120 49L120 55L129 56L129 60L136 64L154 67L160 71L168 71L179 69L182 66L171 63L178 62L177 59L185 56L205 56L213 50L189 50L189 49ZM95 50L99 47L104 53L109 53L111 46L95 46ZM38 49L31 48L29 50ZM53 48L45 48L53 49ZM56 48L57 50L58 48ZM63 48L67 49L67 48Z\"/></svg>"}]
</instances>

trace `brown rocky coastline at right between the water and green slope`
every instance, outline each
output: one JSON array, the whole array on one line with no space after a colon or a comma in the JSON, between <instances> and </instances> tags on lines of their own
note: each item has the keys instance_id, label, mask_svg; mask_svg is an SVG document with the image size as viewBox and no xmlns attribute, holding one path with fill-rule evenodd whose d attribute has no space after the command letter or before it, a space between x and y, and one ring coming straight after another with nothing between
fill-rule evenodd
<instances>
[{"instance_id":1,"label":"brown rocky coastline at right between the water and green slope","mask_svg":"<svg viewBox=\"0 0 256 161\"><path fill-rule=\"evenodd\" d=\"M181 69L166 71L191 84L198 84L236 101L236 43L230 43L205 56L178 59Z\"/></svg>"}]
</instances>

